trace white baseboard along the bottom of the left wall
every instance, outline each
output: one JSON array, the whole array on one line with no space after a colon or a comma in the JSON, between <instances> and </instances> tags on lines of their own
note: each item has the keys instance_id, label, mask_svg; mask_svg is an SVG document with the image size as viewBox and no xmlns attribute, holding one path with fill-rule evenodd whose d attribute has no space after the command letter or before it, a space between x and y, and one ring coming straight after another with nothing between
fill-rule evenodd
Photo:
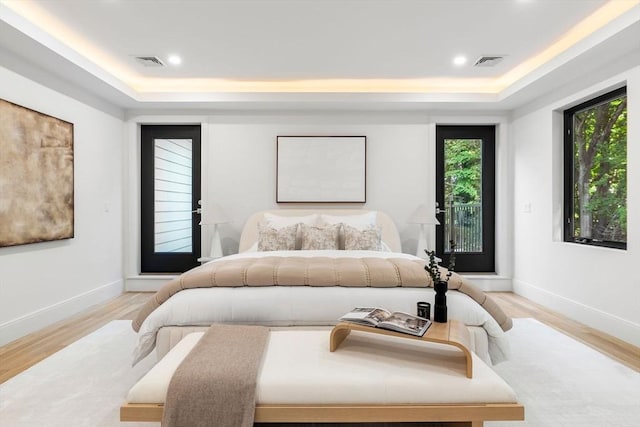
<instances>
[{"instance_id":1,"label":"white baseboard along the bottom of the left wall","mask_svg":"<svg viewBox=\"0 0 640 427\"><path fill-rule=\"evenodd\" d=\"M122 294L122 280L108 283L67 300L60 301L32 313L0 324L0 345L5 345L55 322L66 319L92 305L100 304Z\"/></svg>"}]
</instances>

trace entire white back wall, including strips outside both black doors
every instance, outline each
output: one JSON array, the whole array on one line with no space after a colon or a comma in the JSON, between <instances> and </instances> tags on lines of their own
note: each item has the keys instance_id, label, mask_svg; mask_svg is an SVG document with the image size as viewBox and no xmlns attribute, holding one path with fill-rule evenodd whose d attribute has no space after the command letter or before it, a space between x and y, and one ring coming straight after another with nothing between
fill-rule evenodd
<instances>
[{"instance_id":1,"label":"entire white back wall, including strips outside both black doors","mask_svg":"<svg viewBox=\"0 0 640 427\"><path fill-rule=\"evenodd\" d=\"M420 204L435 206L435 123L499 124L500 117L429 117L421 113L383 112L322 112L217 114L197 116L137 116L128 123L129 182L139 176L139 135L141 123L201 123L202 138L202 200L217 203L233 218L221 226L223 252L228 255L238 249L240 232L252 213L264 209L300 207L298 204L277 204L276 137L278 135L364 135L367 137L367 202L343 204L342 207L363 207L383 210L395 221L400 231L402 249L415 253L418 226L407 224L407 218ZM498 156L506 158L506 126L499 130ZM507 168L498 161L499 210L503 223L510 224L510 208L506 191ZM154 290L166 276L141 276L139 272L139 189L129 187L127 212L127 289ZM307 205L308 206L308 205ZM313 205L318 207L318 205ZM322 207L337 207L334 204ZM434 209L435 211L435 209ZM509 227L508 227L509 228ZM209 231L203 230L203 253L209 252ZM430 247L434 247L433 228L428 230ZM499 276L482 276L477 280L485 289L510 289L510 231L504 228L498 238Z\"/></svg>"}]
</instances>

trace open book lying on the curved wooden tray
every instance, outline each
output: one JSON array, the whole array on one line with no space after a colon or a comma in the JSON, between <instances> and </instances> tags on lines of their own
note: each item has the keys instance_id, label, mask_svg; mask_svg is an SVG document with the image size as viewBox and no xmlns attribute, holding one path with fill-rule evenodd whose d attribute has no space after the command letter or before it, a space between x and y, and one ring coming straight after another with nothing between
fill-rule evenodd
<instances>
[{"instance_id":1,"label":"open book lying on the curved wooden tray","mask_svg":"<svg viewBox=\"0 0 640 427\"><path fill-rule=\"evenodd\" d=\"M391 313L384 308L371 307L356 307L342 316L340 320L418 337L423 336L431 326L431 321L422 317L399 311Z\"/></svg>"}]
</instances>

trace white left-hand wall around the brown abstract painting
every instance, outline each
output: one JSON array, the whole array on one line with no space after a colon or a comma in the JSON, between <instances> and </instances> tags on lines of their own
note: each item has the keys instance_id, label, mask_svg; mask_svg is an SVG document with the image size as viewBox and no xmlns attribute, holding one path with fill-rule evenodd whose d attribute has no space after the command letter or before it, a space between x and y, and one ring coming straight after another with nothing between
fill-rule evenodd
<instances>
[{"instance_id":1,"label":"white left-hand wall around the brown abstract painting","mask_svg":"<svg viewBox=\"0 0 640 427\"><path fill-rule=\"evenodd\" d=\"M0 98L74 124L75 237L0 248L0 345L119 295L119 118L0 67Z\"/></svg>"}]
</instances>

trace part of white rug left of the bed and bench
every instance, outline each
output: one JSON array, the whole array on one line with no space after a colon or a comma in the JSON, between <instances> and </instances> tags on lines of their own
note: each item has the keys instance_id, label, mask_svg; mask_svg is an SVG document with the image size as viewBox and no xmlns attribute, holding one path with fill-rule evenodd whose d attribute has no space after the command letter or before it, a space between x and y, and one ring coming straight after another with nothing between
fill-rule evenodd
<instances>
[{"instance_id":1,"label":"part of white rug left of the bed and bench","mask_svg":"<svg viewBox=\"0 0 640 427\"><path fill-rule=\"evenodd\" d=\"M115 320L0 384L2 427L155 427L120 423L129 389L155 363L131 367L136 334Z\"/></svg>"}]
</instances>

